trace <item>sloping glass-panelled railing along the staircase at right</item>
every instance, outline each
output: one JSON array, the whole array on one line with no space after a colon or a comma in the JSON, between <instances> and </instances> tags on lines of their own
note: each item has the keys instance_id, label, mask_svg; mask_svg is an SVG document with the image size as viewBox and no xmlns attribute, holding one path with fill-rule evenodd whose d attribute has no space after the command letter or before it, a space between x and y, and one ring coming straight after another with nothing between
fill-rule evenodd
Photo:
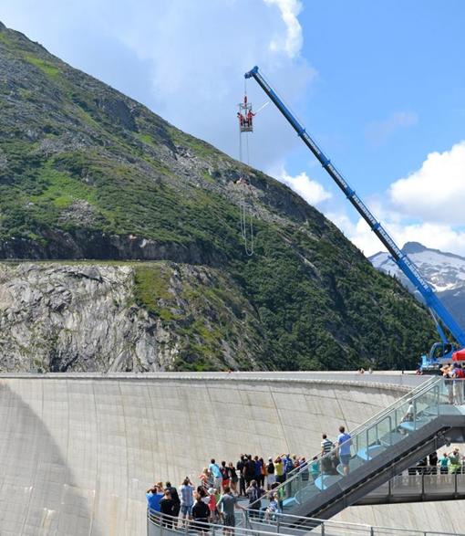
<instances>
[{"instance_id":1,"label":"sloping glass-panelled railing along the staircase at right","mask_svg":"<svg viewBox=\"0 0 465 536\"><path fill-rule=\"evenodd\" d=\"M274 490L282 510L292 513L439 415L460 413L464 386L461 380L434 377L369 419L352 432L346 444L319 457L317 463L309 461L305 470L297 471Z\"/></svg>"}]
</instances>

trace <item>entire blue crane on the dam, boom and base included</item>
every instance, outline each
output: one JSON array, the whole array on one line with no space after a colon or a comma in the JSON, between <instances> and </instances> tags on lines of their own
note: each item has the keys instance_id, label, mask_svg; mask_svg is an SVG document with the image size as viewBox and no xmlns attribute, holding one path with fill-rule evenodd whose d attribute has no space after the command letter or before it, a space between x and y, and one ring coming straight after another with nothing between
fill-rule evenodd
<instances>
[{"instance_id":1,"label":"entire blue crane on the dam, boom and base included","mask_svg":"<svg viewBox=\"0 0 465 536\"><path fill-rule=\"evenodd\" d=\"M294 117L294 114L287 108L283 100L279 98L274 89L263 78L263 75L259 72L258 67L255 66L252 70L246 72L244 77L245 79L255 79L270 100L274 102L277 109L281 111L285 119L291 123L291 126L294 128L294 131L297 132L297 135L305 143L308 149L315 154L315 157L325 168L326 172L331 176L344 194L346 194L347 199L352 205L354 205L358 214L364 218L371 230L375 233L379 240L381 240L391 257L397 263L398 268L400 268L407 276L425 301L436 323L439 337L442 342L435 342L429 351L429 354L421 357L421 369L424 372L433 372L438 370L442 363L449 363L452 359L452 353L457 350L457 347L453 343L449 342L448 337L440 324L440 321L442 321L455 340L460 344L460 348L465 347L465 331L460 328L460 325L454 320L452 315L449 313L449 310L444 307L442 302L434 293L433 289L429 287L428 282L419 273L418 268L415 266L412 260L397 246L391 236L389 236L387 233L387 230L377 221L377 218L371 214L367 205L365 205L360 197L358 197L355 190L350 187L342 174L337 171L336 166L318 147L315 141L311 138L310 134L305 131L305 127L299 121L297 121L297 119Z\"/></svg>"}]
</instances>

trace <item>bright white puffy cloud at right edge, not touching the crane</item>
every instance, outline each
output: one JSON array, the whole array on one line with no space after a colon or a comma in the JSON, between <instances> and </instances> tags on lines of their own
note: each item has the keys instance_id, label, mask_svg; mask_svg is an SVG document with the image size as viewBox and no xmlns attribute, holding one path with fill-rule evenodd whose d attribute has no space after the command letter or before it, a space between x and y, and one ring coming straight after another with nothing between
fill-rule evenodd
<instances>
[{"instance_id":1,"label":"bright white puffy cloud at right edge, not touching the crane","mask_svg":"<svg viewBox=\"0 0 465 536\"><path fill-rule=\"evenodd\" d=\"M465 141L430 152L418 171L391 184L389 195L403 215L465 225Z\"/></svg>"}]
</instances>

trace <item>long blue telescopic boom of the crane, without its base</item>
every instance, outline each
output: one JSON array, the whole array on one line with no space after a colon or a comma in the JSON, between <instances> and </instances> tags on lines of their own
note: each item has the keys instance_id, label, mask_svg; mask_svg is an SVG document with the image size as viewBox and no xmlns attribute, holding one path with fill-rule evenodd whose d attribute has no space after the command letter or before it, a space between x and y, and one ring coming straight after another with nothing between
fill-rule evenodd
<instances>
[{"instance_id":1,"label":"long blue telescopic boom of the crane, without its base","mask_svg":"<svg viewBox=\"0 0 465 536\"><path fill-rule=\"evenodd\" d=\"M365 203L358 197L355 190L350 187L342 174L337 171L331 160L318 147L318 144L311 138L308 132L305 131L305 127L294 117L292 111L285 106L283 100L279 98L274 89L263 78L262 74L259 73L258 67L254 67L252 70L246 72L244 76L246 79L255 79L270 100L274 102L276 108L281 111L285 119L294 128L294 131L297 132L297 135L305 143L308 149L314 153L316 159L325 168L326 172L335 181L337 186L339 186L344 194L346 194L347 199L356 208L358 214L364 218L371 230L387 248L387 251L394 258L398 267L407 276L408 280L415 286L416 289L418 289L418 292L421 294L428 307L434 311L441 321L444 322L457 342L459 342L462 346L465 346L465 332L460 328L459 324L449 313L449 310L444 307L442 302L429 287L427 280L421 276L418 268L415 266L412 260L402 252L391 236L389 236L387 230L381 226L376 217L371 214L370 210L367 208L367 205L365 205ZM440 326L438 326L438 328L439 335L441 335L442 338L443 333L441 334Z\"/></svg>"}]
</instances>

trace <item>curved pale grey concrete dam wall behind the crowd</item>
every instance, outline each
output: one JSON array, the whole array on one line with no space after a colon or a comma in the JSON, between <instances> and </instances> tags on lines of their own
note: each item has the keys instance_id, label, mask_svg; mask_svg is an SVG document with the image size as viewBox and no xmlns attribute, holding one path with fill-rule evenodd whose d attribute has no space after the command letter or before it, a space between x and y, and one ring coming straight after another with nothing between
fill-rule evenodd
<instances>
[{"instance_id":1,"label":"curved pale grey concrete dam wall behind the crowd","mask_svg":"<svg viewBox=\"0 0 465 536\"><path fill-rule=\"evenodd\" d=\"M401 373L0 375L0 533L146 534L145 490L211 457L311 455L425 378ZM460 531L457 501L358 506L334 518Z\"/></svg>"}]
</instances>

